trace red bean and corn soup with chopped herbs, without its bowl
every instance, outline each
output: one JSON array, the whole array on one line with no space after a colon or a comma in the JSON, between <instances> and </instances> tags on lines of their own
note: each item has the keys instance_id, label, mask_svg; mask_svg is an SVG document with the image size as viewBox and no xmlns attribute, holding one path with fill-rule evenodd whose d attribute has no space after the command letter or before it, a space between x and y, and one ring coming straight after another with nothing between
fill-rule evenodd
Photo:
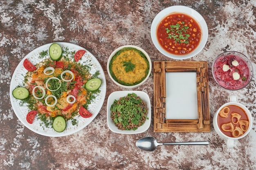
<instances>
[{"instance_id":1,"label":"red bean and corn soup with chopped herbs, without its bowl","mask_svg":"<svg viewBox=\"0 0 256 170\"><path fill-rule=\"evenodd\" d=\"M200 43L201 37L199 24L184 13L172 13L157 26L157 40L171 54L184 55L192 52Z\"/></svg>"}]
</instances>

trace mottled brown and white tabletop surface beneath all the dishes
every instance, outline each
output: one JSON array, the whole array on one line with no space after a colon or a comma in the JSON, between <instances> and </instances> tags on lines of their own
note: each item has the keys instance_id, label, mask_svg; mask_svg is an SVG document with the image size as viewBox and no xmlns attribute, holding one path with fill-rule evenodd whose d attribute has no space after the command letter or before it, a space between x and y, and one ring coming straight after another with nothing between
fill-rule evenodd
<instances>
[{"instance_id":1,"label":"mottled brown and white tabletop surface beneath all the dishes","mask_svg":"<svg viewBox=\"0 0 256 170\"><path fill-rule=\"evenodd\" d=\"M125 135L108 129L106 104L110 93L127 90L107 73L107 59L123 45L136 45L152 61L173 61L151 41L150 26L162 9L184 5L198 11L209 29L204 49L188 61L209 64L210 133L154 133ZM244 89L219 87L211 74L215 57L226 50L246 54L256 72L255 0L2 0L0 1L0 169L256 169L255 77ZM51 42L70 42L89 50L101 63L107 81L106 98L97 117L83 130L65 137L45 137L27 129L9 100L11 76L30 51ZM152 72L153 73L153 72ZM153 75L153 74L152 74ZM150 96L153 117L153 76L135 90ZM227 149L213 129L214 112L236 94L252 113L249 135ZM154 136L158 142L209 140L209 146L159 146L152 153L139 150L137 139Z\"/></svg>"}]
</instances>

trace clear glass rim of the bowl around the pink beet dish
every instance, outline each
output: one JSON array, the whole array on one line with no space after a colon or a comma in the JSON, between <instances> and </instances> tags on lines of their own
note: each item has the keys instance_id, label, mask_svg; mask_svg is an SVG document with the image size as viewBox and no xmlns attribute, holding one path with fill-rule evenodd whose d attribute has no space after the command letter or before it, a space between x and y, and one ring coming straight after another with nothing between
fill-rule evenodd
<instances>
[{"instance_id":1,"label":"clear glass rim of the bowl around the pink beet dish","mask_svg":"<svg viewBox=\"0 0 256 170\"><path fill-rule=\"evenodd\" d=\"M220 83L216 80L215 74L214 74L214 72L213 72L214 63L217 61L217 59L219 59L220 57L224 57L225 54L229 54L229 53L238 54L239 57L241 57L243 60L247 60L247 61L245 61L245 62L247 63L248 68L249 68L249 71L250 71L250 73L251 73L251 74L249 75L249 81L248 81L248 83L245 84L245 85L243 85L243 86L241 86L241 87L239 87L238 89L229 89L229 88L227 88L227 87L224 87L224 86L220 85ZM242 56L243 56L243 57L242 57ZM251 70L250 70L250 69L251 69ZM249 59L245 54L243 54L243 53L241 53L241 52L238 52L238 51L225 51L225 52L222 52L221 54L219 54L219 55L213 60L213 64L212 64L212 67L211 67L211 73L212 73L212 75L213 75L213 79L215 80L215 82L216 82L220 87L223 87L224 89L227 89L227 90L232 90L232 91L234 91L234 90L243 89L243 88L245 88L247 85L249 85L249 83L252 81L252 77L253 77L253 75L254 75L254 70L253 70L252 62L250 61L250 59Z\"/></svg>"}]
</instances>

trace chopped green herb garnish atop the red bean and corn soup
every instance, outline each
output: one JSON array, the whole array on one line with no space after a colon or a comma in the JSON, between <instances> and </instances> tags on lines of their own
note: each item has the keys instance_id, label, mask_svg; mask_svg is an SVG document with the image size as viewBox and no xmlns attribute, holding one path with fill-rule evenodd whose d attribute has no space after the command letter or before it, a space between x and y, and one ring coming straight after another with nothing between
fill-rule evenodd
<instances>
[{"instance_id":1,"label":"chopped green herb garnish atop the red bean and corn soup","mask_svg":"<svg viewBox=\"0 0 256 170\"><path fill-rule=\"evenodd\" d=\"M165 28L166 29L166 33L168 34L169 39L174 39L175 43L184 43L184 44L189 44L189 37L190 35L187 34L186 32L189 29L189 26L185 26L184 25L185 22L182 22L182 25L180 25L179 23L177 23L176 25L171 25L170 28Z\"/></svg>"}]
</instances>

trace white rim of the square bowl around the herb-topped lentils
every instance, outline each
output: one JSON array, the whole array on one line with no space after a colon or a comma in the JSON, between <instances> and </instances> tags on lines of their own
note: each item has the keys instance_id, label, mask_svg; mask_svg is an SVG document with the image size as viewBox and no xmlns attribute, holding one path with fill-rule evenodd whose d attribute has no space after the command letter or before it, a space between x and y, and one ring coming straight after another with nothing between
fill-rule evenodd
<instances>
[{"instance_id":1,"label":"white rim of the square bowl around the herb-topped lentils","mask_svg":"<svg viewBox=\"0 0 256 170\"><path fill-rule=\"evenodd\" d=\"M121 130L118 129L117 126L115 126L115 123L113 122L112 118L110 118L110 107L113 104L115 100L119 100L121 97L127 96L127 94L135 93L137 96L139 96L144 102L146 102L146 105L148 107L148 119L144 122L142 126L139 126L136 130ZM137 133L143 133L146 130L148 130L150 123L151 123L151 105L150 105L150 99L148 94L142 91L116 91L112 92L108 96L108 103L107 103L107 122L108 122L108 128L115 133L121 133L121 134L137 134Z\"/></svg>"}]
</instances>

